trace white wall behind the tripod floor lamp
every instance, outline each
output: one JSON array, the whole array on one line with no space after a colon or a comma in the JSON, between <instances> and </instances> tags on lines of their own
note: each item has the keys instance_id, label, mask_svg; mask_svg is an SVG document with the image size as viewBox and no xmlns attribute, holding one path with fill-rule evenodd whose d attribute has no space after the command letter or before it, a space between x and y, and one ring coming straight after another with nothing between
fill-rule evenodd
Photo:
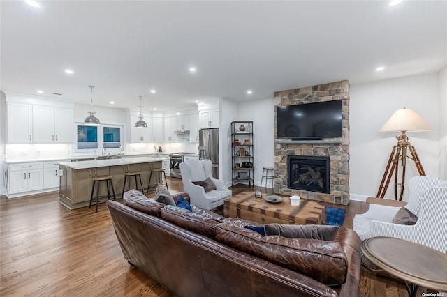
<instances>
[{"instance_id":1,"label":"white wall behind the tripod floor lamp","mask_svg":"<svg viewBox=\"0 0 447 297\"><path fill-rule=\"evenodd\" d=\"M435 131L407 132L420 161L429 176L439 174L439 73L388 79L368 84L352 84L349 122L350 199L376 196L391 150L399 133L379 132L382 125L397 109L411 108L428 121ZM406 185L417 176L414 162L406 166ZM390 185L393 185L391 181ZM404 191L404 198L408 190ZM393 198L388 188L386 197Z\"/></svg>"}]
</instances>

